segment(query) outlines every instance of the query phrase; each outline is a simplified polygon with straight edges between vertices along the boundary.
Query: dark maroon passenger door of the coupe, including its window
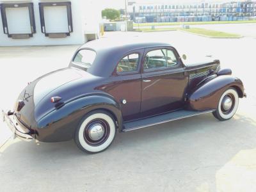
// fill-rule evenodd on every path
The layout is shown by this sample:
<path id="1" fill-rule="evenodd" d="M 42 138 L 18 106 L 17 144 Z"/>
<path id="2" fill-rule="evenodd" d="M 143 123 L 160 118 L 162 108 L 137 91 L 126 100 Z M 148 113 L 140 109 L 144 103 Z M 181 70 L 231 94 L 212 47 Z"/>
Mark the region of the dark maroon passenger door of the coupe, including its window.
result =
<path id="1" fill-rule="evenodd" d="M 188 74 L 172 47 L 145 49 L 141 65 L 141 117 L 184 106 Z"/>

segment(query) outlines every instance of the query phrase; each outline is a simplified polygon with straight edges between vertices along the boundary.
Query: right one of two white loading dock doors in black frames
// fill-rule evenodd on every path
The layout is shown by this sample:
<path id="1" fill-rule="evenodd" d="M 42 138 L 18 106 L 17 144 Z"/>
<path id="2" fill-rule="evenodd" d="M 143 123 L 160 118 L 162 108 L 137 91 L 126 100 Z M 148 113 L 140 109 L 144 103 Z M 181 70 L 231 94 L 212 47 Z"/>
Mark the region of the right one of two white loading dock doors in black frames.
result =
<path id="1" fill-rule="evenodd" d="M 67 6 L 44 6 L 45 33 L 68 33 Z"/>

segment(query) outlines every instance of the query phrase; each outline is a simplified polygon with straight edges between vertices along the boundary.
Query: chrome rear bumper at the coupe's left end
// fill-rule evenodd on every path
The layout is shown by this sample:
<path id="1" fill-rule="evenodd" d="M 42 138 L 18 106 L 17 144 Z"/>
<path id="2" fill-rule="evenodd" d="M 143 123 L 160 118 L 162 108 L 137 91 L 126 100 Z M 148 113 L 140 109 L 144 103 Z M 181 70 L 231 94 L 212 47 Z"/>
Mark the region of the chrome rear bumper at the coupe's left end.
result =
<path id="1" fill-rule="evenodd" d="M 26 129 L 26 127 L 20 125 L 12 113 L 10 114 L 5 113 L 3 110 L 1 111 L 1 117 L 3 119 L 3 122 L 6 122 L 8 127 L 13 132 L 13 138 L 17 137 L 25 141 L 33 140 L 34 138 L 31 136 L 31 132 L 28 129 Z"/>

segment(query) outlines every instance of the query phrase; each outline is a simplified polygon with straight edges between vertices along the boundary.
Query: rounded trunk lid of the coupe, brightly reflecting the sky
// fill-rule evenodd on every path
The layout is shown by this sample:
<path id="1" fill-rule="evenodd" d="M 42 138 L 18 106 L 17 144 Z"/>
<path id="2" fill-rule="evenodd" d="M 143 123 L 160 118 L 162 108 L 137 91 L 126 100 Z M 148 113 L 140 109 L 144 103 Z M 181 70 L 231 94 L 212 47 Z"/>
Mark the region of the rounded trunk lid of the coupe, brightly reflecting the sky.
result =
<path id="1" fill-rule="evenodd" d="M 42 99 L 63 84 L 75 81 L 83 75 L 74 68 L 63 68 L 39 77 L 22 90 L 15 102 L 17 120 L 26 127 L 36 127 L 35 107 Z"/>

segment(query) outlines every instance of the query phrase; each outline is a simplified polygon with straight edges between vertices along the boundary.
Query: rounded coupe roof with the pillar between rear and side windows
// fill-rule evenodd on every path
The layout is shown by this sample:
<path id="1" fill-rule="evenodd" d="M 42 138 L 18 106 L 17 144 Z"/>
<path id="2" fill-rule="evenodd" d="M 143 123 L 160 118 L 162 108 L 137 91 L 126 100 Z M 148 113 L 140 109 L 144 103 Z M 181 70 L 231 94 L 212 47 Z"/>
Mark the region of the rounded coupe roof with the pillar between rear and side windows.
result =
<path id="1" fill-rule="evenodd" d="M 125 54 L 149 47 L 172 47 L 172 45 L 164 42 L 143 42 L 139 38 L 129 40 L 113 40 L 111 38 L 90 41 L 77 50 L 92 49 L 95 51 L 97 56 L 92 67 L 87 71 L 95 76 L 109 77 Z"/>

